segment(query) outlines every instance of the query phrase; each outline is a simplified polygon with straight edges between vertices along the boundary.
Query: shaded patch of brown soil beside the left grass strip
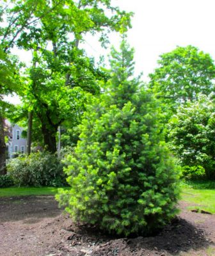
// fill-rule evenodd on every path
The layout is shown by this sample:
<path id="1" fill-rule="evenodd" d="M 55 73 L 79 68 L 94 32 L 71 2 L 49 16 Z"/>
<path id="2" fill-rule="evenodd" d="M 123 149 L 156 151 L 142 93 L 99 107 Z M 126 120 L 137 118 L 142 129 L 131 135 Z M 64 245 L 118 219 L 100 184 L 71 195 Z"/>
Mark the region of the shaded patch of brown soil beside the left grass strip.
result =
<path id="1" fill-rule="evenodd" d="M 54 196 L 13 196 L 0 198 L 0 223 L 23 220 L 25 223 L 36 223 L 42 218 L 60 215 L 62 209 Z"/>

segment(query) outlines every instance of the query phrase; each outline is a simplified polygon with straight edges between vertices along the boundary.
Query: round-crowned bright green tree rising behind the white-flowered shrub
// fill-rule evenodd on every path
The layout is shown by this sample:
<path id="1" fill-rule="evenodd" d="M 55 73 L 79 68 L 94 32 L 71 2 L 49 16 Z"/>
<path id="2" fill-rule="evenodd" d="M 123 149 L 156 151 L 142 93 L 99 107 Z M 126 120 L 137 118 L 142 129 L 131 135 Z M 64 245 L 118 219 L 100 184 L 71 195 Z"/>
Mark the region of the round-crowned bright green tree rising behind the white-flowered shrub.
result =
<path id="1" fill-rule="evenodd" d="M 195 100 L 198 93 L 214 92 L 215 65 L 209 54 L 196 47 L 177 47 L 162 54 L 159 67 L 150 74 L 150 88 L 164 102 L 170 115 L 180 104 Z"/>

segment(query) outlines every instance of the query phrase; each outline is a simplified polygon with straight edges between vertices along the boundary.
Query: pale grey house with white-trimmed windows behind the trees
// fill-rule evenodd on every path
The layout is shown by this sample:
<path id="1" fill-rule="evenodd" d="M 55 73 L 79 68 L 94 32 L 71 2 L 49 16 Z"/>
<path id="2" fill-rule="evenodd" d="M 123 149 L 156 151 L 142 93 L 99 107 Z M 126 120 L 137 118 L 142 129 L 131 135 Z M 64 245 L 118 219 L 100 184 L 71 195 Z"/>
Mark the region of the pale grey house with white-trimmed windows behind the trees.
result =
<path id="1" fill-rule="evenodd" d="M 27 152 L 27 140 L 26 138 L 22 138 L 22 127 L 19 125 L 10 125 L 9 124 L 9 132 L 8 132 L 8 157 L 13 158 L 16 154 L 24 154 Z"/>

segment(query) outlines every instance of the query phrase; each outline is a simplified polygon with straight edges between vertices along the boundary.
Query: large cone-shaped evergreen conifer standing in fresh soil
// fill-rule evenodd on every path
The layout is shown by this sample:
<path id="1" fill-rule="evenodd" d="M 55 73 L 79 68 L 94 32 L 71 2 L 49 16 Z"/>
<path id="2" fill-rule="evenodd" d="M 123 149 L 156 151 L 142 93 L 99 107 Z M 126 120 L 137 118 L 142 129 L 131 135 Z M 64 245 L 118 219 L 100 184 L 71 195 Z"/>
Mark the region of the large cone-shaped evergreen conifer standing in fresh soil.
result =
<path id="1" fill-rule="evenodd" d="M 76 221 L 111 234 L 148 234 L 175 216 L 178 168 L 160 132 L 151 93 L 131 78 L 132 51 L 113 52 L 107 92 L 93 99 L 56 198 Z"/>

